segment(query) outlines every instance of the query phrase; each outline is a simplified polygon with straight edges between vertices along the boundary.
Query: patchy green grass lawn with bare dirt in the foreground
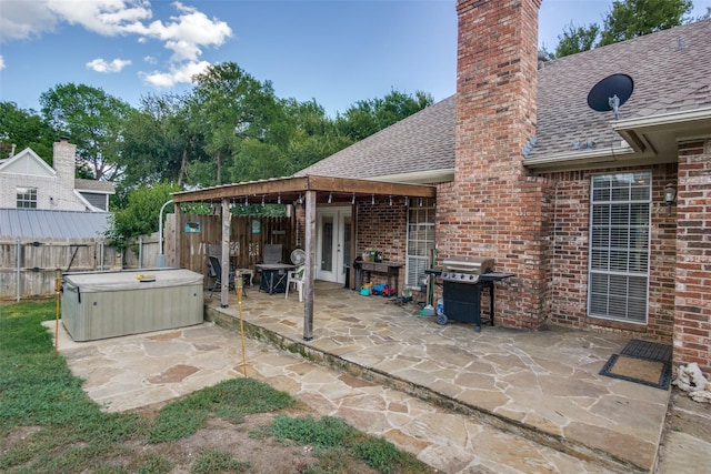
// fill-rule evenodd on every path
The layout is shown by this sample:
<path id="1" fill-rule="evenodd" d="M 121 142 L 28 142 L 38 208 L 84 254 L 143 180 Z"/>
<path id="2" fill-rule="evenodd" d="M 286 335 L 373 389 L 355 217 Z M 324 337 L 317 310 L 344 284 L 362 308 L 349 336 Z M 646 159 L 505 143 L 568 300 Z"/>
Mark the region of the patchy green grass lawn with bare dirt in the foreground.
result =
<path id="1" fill-rule="evenodd" d="M 54 302 L 0 306 L 0 472 L 433 472 L 252 379 L 156 411 L 101 412 L 54 355 L 40 324 L 53 319 Z"/>

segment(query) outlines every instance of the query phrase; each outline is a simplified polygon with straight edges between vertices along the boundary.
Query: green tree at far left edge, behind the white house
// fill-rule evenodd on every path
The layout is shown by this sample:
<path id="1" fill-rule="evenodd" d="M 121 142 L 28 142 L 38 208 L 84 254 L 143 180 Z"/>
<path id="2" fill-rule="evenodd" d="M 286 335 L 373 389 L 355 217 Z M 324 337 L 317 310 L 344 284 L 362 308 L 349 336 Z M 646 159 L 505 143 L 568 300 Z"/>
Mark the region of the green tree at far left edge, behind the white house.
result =
<path id="1" fill-rule="evenodd" d="M 56 133 L 33 110 L 18 108 L 14 102 L 0 102 L 0 159 L 31 148 L 48 164 L 52 164 Z"/>

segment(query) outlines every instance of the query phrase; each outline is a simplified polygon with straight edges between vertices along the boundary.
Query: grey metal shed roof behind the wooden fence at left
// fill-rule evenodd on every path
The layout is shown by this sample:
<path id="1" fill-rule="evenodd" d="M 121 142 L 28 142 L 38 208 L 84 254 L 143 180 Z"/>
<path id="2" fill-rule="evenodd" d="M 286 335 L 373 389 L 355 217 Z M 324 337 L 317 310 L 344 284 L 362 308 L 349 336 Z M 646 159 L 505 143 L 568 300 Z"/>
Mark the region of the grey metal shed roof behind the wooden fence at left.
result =
<path id="1" fill-rule="evenodd" d="M 0 209 L 0 238 L 88 239 L 103 235 L 110 213 Z"/>

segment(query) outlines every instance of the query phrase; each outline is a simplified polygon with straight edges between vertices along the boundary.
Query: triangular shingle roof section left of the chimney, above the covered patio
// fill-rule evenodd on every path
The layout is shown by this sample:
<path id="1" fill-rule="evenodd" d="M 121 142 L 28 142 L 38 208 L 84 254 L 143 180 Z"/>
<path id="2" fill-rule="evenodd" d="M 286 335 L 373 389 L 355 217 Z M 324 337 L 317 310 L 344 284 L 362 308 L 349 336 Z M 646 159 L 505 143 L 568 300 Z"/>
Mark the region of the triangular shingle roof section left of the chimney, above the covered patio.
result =
<path id="1" fill-rule="evenodd" d="M 451 169 L 455 102 L 444 99 L 296 174 L 358 179 Z"/>

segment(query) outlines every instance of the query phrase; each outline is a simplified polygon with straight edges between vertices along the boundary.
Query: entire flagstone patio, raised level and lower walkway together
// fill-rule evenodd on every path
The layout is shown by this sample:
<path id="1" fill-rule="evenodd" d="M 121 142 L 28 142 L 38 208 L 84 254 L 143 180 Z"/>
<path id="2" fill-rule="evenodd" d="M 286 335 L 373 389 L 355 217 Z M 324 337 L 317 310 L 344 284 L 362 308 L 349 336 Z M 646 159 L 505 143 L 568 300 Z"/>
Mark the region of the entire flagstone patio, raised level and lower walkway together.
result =
<path id="1" fill-rule="evenodd" d="M 150 405 L 243 376 L 239 305 L 219 325 L 73 343 L 60 352 L 110 411 Z M 670 392 L 598 375 L 628 342 L 419 316 L 419 306 L 318 288 L 314 340 L 294 294 L 243 301 L 247 372 L 321 414 L 388 437 L 447 473 L 650 472 Z M 53 324 L 50 325 L 53 330 Z M 228 327 L 230 330 L 226 330 Z M 336 369 L 336 370 L 334 370 Z"/>

